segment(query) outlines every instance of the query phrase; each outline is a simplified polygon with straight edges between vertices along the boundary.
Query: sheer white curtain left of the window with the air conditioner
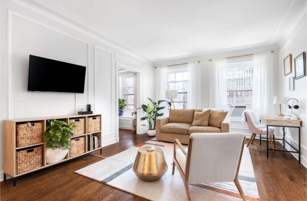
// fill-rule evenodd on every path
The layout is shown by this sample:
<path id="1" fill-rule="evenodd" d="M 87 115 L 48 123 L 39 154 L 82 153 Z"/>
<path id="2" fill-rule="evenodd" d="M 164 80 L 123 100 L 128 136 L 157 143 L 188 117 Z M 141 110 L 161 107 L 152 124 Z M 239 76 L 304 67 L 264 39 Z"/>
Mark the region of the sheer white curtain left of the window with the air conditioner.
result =
<path id="1" fill-rule="evenodd" d="M 212 59 L 209 90 L 210 108 L 220 108 L 227 111 L 226 58 Z"/>

